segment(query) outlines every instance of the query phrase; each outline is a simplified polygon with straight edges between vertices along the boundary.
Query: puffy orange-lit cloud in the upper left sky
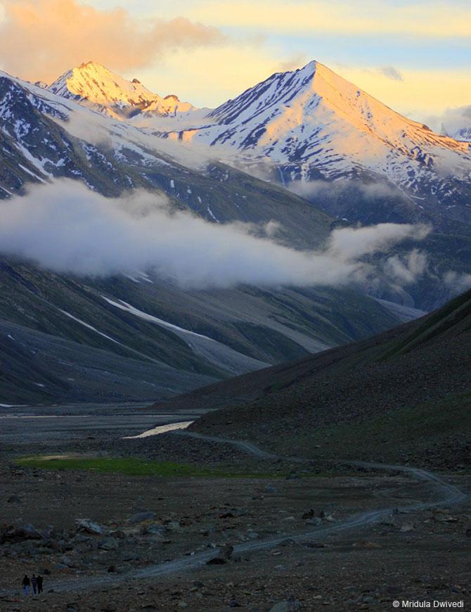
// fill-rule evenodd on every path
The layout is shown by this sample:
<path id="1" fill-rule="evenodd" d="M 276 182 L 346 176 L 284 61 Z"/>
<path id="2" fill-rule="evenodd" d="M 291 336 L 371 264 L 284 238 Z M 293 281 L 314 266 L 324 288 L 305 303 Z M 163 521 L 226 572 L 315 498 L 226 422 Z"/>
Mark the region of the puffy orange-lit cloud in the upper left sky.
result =
<path id="1" fill-rule="evenodd" d="M 85 60 L 127 72 L 176 49 L 224 41 L 216 27 L 183 17 L 143 21 L 76 0 L 0 0 L 0 20 L 1 68 L 46 82 Z"/>

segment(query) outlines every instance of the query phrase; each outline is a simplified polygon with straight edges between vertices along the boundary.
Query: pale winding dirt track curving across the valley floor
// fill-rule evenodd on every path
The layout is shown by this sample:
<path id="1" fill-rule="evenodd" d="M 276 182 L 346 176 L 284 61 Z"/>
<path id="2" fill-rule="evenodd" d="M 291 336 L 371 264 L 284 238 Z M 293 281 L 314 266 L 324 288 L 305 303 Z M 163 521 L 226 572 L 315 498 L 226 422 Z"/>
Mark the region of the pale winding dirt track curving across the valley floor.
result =
<path id="1" fill-rule="evenodd" d="M 199 433 L 193 433 L 188 431 L 177 431 L 173 435 L 185 435 L 191 438 L 198 438 L 199 440 L 207 440 L 208 442 L 231 444 L 233 446 L 238 447 L 240 450 L 243 450 L 244 452 L 254 454 L 262 459 L 287 459 L 286 457 L 278 457 L 278 455 L 271 454 L 262 449 L 259 449 L 257 446 L 253 445 L 250 442 L 243 442 L 241 440 L 216 438 L 213 436 L 202 435 Z M 302 459 L 300 457 L 289 458 L 290 461 L 292 461 L 293 459 L 299 462 L 311 461 L 311 459 Z M 358 528 L 363 528 L 366 525 L 378 523 L 378 521 L 381 521 L 382 519 L 390 516 L 396 508 L 402 512 L 412 512 L 427 508 L 433 508 L 444 504 L 446 504 L 447 506 L 459 504 L 467 498 L 467 495 L 460 491 L 458 487 L 446 483 L 444 480 L 439 478 L 439 476 L 432 472 L 408 466 L 368 463 L 366 461 L 348 461 L 346 463 L 365 468 L 374 468 L 385 471 L 400 471 L 407 474 L 408 476 L 412 476 L 416 480 L 421 480 L 425 483 L 429 483 L 432 489 L 432 495 L 430 496 L 430 500 L 427 502 L 418 502 L 415 504 L 410 504 L 408 506 L 392 506 L 378 510 L 361 512 L 359 514 L 354 514 L 350 516 L 346 520 L 342 521 L 342 523 L 328 526 L 320 526 L 314 529 L 311 528 L 308 531 L 304 531 L 303 533 L 299 533 L 297 535 L 285 535 L 282 537 L 269 538 L 267 540 L 258 540 L 256 542 L 243 542 L 243 544 L 237 544 L 234 547 L 234 554 L 247 554 L 251 552 L 269 549 L 278 546 L 286 540 L 302 542 L 304 540 L 312 540 L 313 538 L 315 538 L 316 541 L 318 541 L 322 540 L 328 535 L 351 531 Z M 93 587 L 104 587 L 105 585 L 115 584 L 117 582 L 122 582 L 123 580 L 138 580 L 158 577 L 162 575 L 169 575 L 172 573 L 183 573 L 186 571 L 191 571 L 204 567 L 207 561 L 209 561 L 209 559 L 212 559 L 214 556 L 216 556 L 216 551 L 212 549 L 208 552 L 194 554 L 193 556 L 185 556 L 182 559 L 175 559 L 174 561 L 167 561 L 166 563 L 157 563 L 153 566 L 130 570 L 129 572 L 122 574 L 103 575 L 97 578 L 79 578 L 78 580 L 67 582 L 56 582 L 55 584 L 51 584 L 51 588 L 53 588 L 56 592 L 73 591 L 79 589 L 89 589 Z"/>

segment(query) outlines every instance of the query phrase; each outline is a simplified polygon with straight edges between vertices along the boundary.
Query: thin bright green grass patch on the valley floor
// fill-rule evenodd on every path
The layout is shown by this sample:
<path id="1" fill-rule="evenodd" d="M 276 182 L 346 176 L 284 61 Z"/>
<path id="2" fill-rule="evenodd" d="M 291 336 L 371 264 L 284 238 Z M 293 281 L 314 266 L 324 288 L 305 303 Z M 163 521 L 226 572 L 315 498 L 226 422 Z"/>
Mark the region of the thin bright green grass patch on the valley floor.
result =
<path id="1" fill-rule="evenodd" d="M 281 473 L 246 473 L 207 469 L 173 461 L 146 461 L 136 457 L 22 457 L 16 463 L 25 468 L 118 473 L 125 476 L 281 478 Z"/>

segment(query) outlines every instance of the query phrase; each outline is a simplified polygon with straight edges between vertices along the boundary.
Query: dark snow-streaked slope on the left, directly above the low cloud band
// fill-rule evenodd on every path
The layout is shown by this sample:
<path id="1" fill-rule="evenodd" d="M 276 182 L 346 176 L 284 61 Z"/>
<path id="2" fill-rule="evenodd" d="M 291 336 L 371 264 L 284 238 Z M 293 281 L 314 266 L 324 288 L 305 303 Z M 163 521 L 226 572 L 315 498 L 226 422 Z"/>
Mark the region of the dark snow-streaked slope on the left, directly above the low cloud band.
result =
<path id="1" fill-rule="evenodd" d="M 286 240 L 312 248 L 329 215 L 285 190 L 102 117 L 51 92 L 0 74 L 0 198 L 67 177 L 105 196 L 143 188 L 211 222 L 279 222 Z"/>

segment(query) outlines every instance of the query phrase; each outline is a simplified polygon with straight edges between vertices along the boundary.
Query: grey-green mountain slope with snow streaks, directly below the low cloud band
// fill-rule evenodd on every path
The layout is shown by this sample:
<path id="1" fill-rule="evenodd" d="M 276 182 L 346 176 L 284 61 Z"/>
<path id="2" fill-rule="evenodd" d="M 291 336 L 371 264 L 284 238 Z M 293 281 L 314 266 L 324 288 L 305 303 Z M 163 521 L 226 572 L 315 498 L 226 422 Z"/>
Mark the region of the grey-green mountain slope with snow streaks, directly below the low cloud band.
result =
<path id="1" fill-rule="evenodd" d="M 5 404 L 164 399 L 398 321 L 354 291 L 185 291 L 148 274 L 79 279 L 4 258 L 0 283 Z"/>

